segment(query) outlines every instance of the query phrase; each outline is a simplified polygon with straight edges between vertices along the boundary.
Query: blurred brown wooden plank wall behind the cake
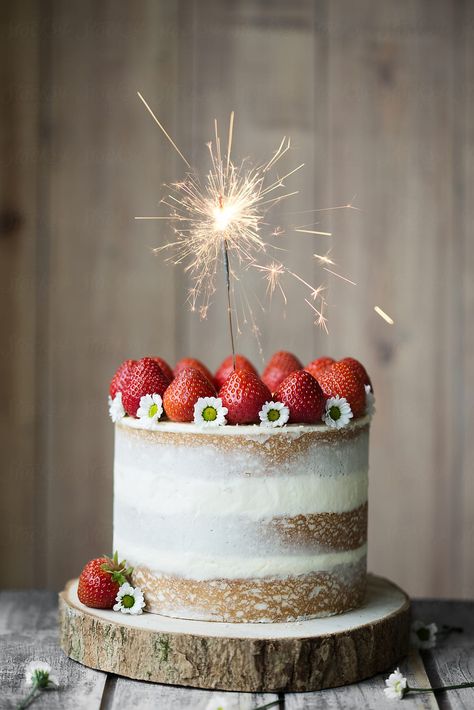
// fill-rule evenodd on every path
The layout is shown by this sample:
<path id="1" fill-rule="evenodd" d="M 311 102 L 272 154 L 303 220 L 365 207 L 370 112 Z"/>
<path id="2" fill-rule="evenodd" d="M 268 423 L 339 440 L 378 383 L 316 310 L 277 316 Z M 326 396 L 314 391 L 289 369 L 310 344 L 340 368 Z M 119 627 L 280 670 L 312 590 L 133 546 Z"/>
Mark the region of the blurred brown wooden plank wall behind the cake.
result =
<path id="1" fill-rule="evenodd" d="M 212 119 L 235 109 L 237 155 L 263 160 L 290 135 L 290 163 L 306 163 L 288 211 L 360 208 L 316 213 L 358 284 L 329 279 L 329 336 L 290 284 L 286 318 L 275 305 L 260 319 L 264 354 L 367 364 L 370 567 L 414 595 L 472 596 L 472 3 L 21 0 L 0 12 L 2 583 L 60 588 L 110 548 L 116 365 L 155 353 L 215 367 L 229 350 L 222 299 L 207 321 L 190 313 L 181 271 L 150 257 L 165 227 L 133 220 L 183 167 L 140 90 L 194 164 Z M 316 279 L 328 240 L 285 239 Z M 239 350 L 261 364 L 246 327 Z"/>

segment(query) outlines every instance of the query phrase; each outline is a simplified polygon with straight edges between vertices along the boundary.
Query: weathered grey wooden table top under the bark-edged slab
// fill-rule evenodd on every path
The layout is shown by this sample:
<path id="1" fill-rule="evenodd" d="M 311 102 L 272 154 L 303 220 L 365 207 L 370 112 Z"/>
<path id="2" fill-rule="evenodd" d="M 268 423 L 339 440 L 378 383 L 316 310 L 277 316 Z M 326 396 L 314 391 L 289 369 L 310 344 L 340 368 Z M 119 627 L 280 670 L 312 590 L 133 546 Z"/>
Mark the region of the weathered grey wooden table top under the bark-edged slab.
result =
<path id="1" fill-rule="evenodd" d="M 436 648 L 413 651 L 400 669 L 413 686 L 437 686 L 474 680 L 474 601 L 421 600 L 413 602 L 413 618 L 463 627 L 440 639 Z M 24 668 L 31 660 L 45 660 L 54 669 L 61 688 L 43 692 L 34 708 L 58 710 L 254 710 L 279 701 L 280 710 L 339 710 L 393 708 L 383 693 L 388 674 L 356 685 L 315 693 L 251 694 L 194 690 L 128 680 L 94 671 L 71 661 L 58 645 L 57 595 L 45 591 L 0 592 L 0 708 L 14 708 L 26 695 Z M 406 708 L 474 708 L 474 689 L 410 695 Z"/>

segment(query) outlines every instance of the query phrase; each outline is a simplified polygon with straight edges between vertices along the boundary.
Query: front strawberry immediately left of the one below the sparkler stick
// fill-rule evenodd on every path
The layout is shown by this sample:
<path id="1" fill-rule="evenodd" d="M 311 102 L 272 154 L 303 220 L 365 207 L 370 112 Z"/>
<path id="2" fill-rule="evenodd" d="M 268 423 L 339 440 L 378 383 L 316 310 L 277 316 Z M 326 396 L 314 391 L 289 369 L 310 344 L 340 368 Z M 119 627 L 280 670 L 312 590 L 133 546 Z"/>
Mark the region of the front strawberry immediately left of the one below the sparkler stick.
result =
<path id="1" fill-rule="evenodd" d="M 174 422 L 192 422 L 194 405 L 200 397 L 215 397 L 214 385 L 204 377 L 202 372 L 192 367 L 186 367 L 166 389 L 163 397 L 163 407 L 169 419 Z"/>

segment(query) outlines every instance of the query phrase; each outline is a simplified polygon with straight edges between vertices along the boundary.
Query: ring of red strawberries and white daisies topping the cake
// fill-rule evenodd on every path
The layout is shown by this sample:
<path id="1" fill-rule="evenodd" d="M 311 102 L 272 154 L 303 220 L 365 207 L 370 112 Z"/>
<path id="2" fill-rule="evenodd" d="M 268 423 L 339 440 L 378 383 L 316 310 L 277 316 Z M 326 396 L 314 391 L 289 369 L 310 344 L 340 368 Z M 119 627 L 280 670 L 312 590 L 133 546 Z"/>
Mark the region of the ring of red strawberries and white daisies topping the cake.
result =
<path id="1" fill-rule="evenodd" d="M 325 421 L 340 428 L 369 408 L 372 385 L 354 358 L 336 362 L 320 357 L 306 367 L 292 353 L 280 351 L 260 378 L 243 355 L 227 357 L 215 375 L 194 358 L 171 370 L 160 357 L 126 360 L 110 383 L 111 416 L 128 414 L 157 421 L 164 412 L 176 422 L 206 425 L 270 426 Z"/>

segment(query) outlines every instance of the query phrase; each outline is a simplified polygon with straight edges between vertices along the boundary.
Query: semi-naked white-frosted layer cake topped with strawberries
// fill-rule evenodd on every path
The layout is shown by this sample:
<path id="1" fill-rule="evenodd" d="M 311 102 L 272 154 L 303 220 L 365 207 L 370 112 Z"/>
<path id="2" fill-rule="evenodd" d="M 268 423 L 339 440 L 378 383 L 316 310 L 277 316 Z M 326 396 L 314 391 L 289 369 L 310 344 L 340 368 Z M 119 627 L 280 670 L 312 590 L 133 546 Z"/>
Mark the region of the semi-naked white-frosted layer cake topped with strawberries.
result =
<path id="1" fill-rule="evenodd" d="M 127 362 L 133 368 L 133 361 Z M 349 366 L 337 370 L 332 363 L 324 367 L 330 376 L 319 377 L 309 366 L 311 375 L 306 370 L 289 375 L 284 382 L 293 378 L 291 386 L 281 385 L 273 398 L 258 376 L 248 373 L 257 390 L 263 388 L 260 425 L 258 409 L 250 424 L 229 423 L 221 415 L 225 426 L 202 426 L 196 415 L 191 421 L 189 402 L 197 407 L 197 394 L 199 402 L 222 403 L 206 399 L 209 377 L 193 368 L 185 370 L 192 385 L 177 390 L 189 399 L 187 410 L 167 407 L 165 391 L 163 413 L 160 395 L 140 396 L 140 387 L 137 394 L 125 380 L 124 392 L 128 387 L 131 394 L 125 409 L 119 407 L 120 416 L 113 416 L 113 538 L 114 549 L 133 567 L 130 581 L 142 590 L 146 611 L 275 623 L 340 614 L 363 603 L 371 387 L 363 382 L 370 382 L 363 368 L 365 375 L 357 367 L 348 374 Z M 300 380 L 321 393 L 322 405 L 313 403 L 322 407 L 317 421 L 314 413 L 307 417 L 298 408 L 294 382 Z M 162 386 L 156 382 L 143 382 L 142 390 Z M 232 421 L 238 416 L 231 398 L 225 400 L 225 387 L 219 396 Z M 122 406 L 115 390 L 120 401 L 114 397 L 112 407 Z M 256 396 L 251 392 L 249 399 Z M 289 404 L 278 405 L 289 417 L 283 426 L 264 421 L 262 412 L 270 405 L 262 403 L 268 399 Z M 303 400 L 307 408 L 309 399 Z M 135 416 L 124 416 L 127 407 Z M 339 417 L 338 407 L 347 416 L 336 421 L 330 412 Z M 292 423 L 292 411 L 302 421 Z M 162 414 L 168 419 L 160 420 Z M 172 421 L 170 415 L 186 420 Z"/>

